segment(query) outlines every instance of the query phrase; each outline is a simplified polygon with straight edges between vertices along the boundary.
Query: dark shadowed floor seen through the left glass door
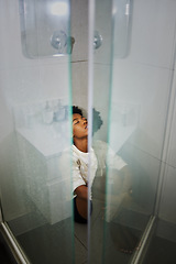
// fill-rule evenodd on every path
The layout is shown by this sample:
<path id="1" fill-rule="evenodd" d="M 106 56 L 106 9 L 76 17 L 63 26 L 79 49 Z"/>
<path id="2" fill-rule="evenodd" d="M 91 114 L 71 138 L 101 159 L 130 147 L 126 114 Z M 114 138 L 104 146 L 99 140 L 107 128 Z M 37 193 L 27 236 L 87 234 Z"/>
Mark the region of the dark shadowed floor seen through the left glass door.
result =
<path id="1" fill-rule="evenodd" d="M 73 262 L 70 219 L 53 226 L 44 224 L 19 235 L 16 239 L 33 264 Z"/>

